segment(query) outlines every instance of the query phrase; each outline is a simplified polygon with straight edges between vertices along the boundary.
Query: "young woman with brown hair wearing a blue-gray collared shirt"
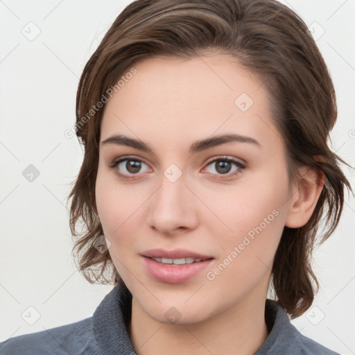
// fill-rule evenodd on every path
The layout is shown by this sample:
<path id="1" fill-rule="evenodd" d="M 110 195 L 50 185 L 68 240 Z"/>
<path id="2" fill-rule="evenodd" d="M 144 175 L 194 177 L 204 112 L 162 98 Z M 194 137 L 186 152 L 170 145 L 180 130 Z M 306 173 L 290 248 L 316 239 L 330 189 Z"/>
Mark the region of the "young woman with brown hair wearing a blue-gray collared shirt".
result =
<path id="1" fill-rule="evenodd" d="M 318 287 L 322 214 L 324 241 L 351 189 L 302 19 L 272 0 L 135 1 L 87 62 L 76 118 L 74 251 L 115 287 L 1 354 L 336 354 L 289 319 Z"/>

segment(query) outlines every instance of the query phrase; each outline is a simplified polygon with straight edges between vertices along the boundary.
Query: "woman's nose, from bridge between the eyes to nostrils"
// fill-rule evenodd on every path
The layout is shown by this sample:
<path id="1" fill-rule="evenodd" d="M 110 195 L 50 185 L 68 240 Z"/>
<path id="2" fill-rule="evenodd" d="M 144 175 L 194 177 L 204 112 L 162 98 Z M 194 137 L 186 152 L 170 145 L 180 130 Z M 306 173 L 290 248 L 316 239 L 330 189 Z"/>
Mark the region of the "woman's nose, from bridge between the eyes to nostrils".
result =
<path id="1" fill-rule="evenodd" d="M 187 232 L 198 224 L 198 198 L 187 186 L 184 173 L 176 174 L 181 174 L 176 168 L 162 173 L 148 204 L 148 225 L 164 235 Z"/>

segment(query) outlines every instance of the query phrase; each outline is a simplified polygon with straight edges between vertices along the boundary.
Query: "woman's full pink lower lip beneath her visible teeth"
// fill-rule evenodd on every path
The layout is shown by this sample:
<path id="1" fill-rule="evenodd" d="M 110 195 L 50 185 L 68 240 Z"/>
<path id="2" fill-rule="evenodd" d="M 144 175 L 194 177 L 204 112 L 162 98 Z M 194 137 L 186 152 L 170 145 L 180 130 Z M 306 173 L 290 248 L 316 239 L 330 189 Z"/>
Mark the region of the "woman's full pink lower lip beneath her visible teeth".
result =
<path id="1" fill-rule="evenodd" d="M 213 259 L 207 259 L 198 263 L 187 263 L 184 265 L 169 265 L 144 257 L 144 263 L 148 274 L 159 282 L 166 284 L 180 284 L 205 269 Z"/>

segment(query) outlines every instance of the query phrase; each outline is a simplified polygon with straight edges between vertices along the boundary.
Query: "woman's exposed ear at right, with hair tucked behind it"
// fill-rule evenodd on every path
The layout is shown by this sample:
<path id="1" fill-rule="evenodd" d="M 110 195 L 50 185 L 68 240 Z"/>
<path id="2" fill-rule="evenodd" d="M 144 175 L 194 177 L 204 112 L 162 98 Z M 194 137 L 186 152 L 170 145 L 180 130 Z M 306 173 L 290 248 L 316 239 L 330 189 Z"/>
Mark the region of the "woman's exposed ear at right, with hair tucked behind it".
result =
<path id="1" fill-rule="evenodd" d="M 293 186 L 285 220 L 290 228 L 302 227 L 309 221 L 324 186 L 322 171 L 310 166 L 302 166 L 299 171 L 301 178 Z"/>

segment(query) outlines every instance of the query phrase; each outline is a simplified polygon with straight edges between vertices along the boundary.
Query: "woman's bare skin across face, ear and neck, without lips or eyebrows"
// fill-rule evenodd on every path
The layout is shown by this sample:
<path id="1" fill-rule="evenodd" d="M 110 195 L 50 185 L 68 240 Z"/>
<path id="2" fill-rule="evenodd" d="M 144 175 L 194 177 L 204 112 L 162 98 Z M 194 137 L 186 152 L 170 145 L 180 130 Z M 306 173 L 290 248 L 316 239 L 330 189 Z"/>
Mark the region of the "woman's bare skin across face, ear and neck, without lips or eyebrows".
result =
<path id="1" fill-rule="evenodd" d="M 133 296 L 132 344 L 139 355 L 254 354 L 268 337 L 265 301 L 282 230 L 309 220 L 321 177 L 300 168 L 302 179 L 288 185 L 284 141 L 272 123 L 268 93 L 236 60 L 217 53 L 150 58 L 135 69 L 105 106 L 101 143 L 125 135 L 144 141 L 153 153 L 103 144 L 96 178 L 110 256 Z M 242 93 L 254 101 L 245 112 L 235 103 Z M 234 141 L 189 153 L 195 141 L 231 133 L 259 144 Z M 128 160 L 143 161 L 140 170 L 127 168 L 130 160 L 110 168 L 132 155 Z M 227 164 L 225 157 L 245 168 Z M 223 173 L 217 158 L 229 172 Z M 164 175 L 171 164 L 182 173 L 175 182 Z M 269 223 L 262 232 L 208 279 L 207 272 L 264 218 Z M 166 284 L 144 267 L 140 254 L 152 248 L 193 250 L 214 260 L 187 282 Z M 166 318 L 171 307 L 180 315 L 174 324 Z"/>

